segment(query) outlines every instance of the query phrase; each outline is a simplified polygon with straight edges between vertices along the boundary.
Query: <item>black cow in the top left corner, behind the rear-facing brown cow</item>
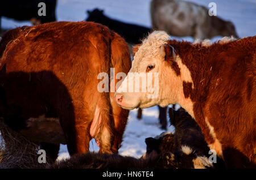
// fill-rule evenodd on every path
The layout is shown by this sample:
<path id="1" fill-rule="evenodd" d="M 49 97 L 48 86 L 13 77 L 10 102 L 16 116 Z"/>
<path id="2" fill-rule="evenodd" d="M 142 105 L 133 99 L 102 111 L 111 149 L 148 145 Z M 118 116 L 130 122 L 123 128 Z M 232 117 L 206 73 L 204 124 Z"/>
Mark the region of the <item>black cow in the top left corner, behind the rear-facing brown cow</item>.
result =
<path id="1" fill-rule="evenodd" d="M 43 2 L 46 4 L 46 16 L 39 16 L 38 4 Z M 55 22 L 57 0 L 8 0 L 0 3 L 0 28 L 1 17 L 12 18 L 18 21 L 30 20 L 32 24 L 42 24 L 47 22 Z"/>

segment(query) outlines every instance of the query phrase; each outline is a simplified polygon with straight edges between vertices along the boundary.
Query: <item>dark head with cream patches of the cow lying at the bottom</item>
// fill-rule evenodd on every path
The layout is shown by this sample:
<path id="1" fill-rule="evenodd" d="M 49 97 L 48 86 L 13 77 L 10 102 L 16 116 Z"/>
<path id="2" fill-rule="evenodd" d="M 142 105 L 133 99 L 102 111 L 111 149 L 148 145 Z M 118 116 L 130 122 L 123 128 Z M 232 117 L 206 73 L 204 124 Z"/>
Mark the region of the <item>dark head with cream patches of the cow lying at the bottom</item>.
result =
<path id="1" fill-rule="evenodd" d="M 163 132 L 155 138 L 146 138 L 147 151 L 141 158 L 143 160 L 157 160 L 164 168 L 213 168 L 208 157 L 197 155 L 191 147 L 181 145 L 180 149 L 177 149 L 175 136 L 171 132 Z"/>

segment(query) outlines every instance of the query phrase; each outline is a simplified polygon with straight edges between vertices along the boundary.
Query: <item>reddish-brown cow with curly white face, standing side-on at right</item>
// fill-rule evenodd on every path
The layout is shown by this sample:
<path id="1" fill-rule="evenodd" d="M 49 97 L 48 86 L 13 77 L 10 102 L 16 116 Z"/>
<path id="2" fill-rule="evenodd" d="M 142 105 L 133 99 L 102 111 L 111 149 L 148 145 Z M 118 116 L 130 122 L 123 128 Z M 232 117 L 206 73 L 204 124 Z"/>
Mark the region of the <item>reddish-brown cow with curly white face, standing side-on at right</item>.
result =
<path id="1" fill-rule="evenodd" d="M 226 166 L 255 167 L 256 36 L 212 45 L 169 38 L 155 31 L 134 48 L 130 72 L 152 72 L 147 88 L 153 91 L 127 92 L 134 79 L 127 76 L 115 101 L 125 109 L 180 104 Z"/>

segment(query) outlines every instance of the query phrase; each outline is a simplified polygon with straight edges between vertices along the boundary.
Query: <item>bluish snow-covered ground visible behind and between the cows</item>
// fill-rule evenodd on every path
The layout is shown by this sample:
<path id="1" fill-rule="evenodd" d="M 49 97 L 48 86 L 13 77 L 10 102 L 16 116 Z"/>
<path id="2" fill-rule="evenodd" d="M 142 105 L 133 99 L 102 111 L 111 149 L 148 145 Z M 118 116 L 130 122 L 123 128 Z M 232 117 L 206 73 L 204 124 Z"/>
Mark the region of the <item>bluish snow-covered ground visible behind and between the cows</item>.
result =
<path id="1" fill-rule="evenodd" d="M 110 18 L 122 20 L 123 22 L 135 23 L 151 27 L 150 20 L 151 0 L 58 0 L 56 15 L 58 21 L 81 21 L 87 18 L 86 10 L 102 8 Z M 238 36 L 256 35 L 256 0 L 191 0 L 208 7 L 210 2 L 217 4 L 217 15 L 225 20 L 230 20 L 236 26 Z M 15 22 L 14 20 L 2 18 L 3 28 L 15 28 L 22 25 L 31 25 L 30 22 Z M 176 38 L 176 37 L 174 37 Z M 221 37 L 214 37 L 216 41 Z M 191 37 L 177 38 L 192 41 Z M 125 134 L 123 135 L 122 147 L 119 149 L 121 155 L 140 157 L 146 152 L 144 139 L 159 135 L 158 107 L 143 109 L 141 121 L 138 121 L 137 110 L 132 110 L 129 115 Z M 168 122 L 169 123 L 169 122 Z M 168 126 L 167 131 L 174 131 L 174 127 Z M 98 151 L 96 142 L 90 142 L 90 151 Z M 61 145 L 59 159 L 69 157 L 67 146 Z"/>

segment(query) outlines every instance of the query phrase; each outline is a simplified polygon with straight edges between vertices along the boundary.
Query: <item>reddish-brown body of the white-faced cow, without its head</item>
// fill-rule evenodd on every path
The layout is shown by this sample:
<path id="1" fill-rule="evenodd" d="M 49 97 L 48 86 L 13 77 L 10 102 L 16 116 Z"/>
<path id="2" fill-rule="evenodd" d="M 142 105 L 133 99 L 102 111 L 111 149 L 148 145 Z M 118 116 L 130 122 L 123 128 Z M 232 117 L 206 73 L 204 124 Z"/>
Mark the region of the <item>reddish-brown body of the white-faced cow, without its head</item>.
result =
<path id="1" fill-rule="evenodd" d="M 175 40 L 168 45 L 191 72 L 195 87 L 183 82 L 183 92 L 193 102 L 207 143 L 214 143 L 214 137 L 205 118 L 221 143 L 226 165 L 255 168 L 256 36 L 207 47 Z"/>

